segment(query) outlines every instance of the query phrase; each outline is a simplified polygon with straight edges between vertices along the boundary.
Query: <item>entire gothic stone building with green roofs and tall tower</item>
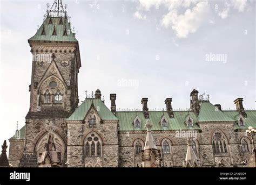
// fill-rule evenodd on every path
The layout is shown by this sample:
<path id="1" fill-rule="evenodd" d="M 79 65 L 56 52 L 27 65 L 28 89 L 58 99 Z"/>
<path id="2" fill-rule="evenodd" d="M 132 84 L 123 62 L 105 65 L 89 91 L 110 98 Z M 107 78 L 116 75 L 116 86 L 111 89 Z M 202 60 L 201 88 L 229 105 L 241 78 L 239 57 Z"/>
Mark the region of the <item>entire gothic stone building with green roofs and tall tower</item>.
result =
<path id="1" fill-rule="evenodd" d="M 235 99 L 236 110 L 221 110 L 192 90 L 187 110 L 174 111 L 166 98 L 166 110 L 151 111 L 142 98 L 141 111 L 117 111 L 117 95 L 110 95 L 109 109 L 96 90 L 78 106 L 79 44 L 62 2 L 53 5 L 59 11 L 48 10 L 28 40 L 30 109 L 25 126 L 9 139 L 12 166 L 142 167 L 148 120 L 161 167 L 182 167 L 192 160 L 186 158 L 191 148 L 203 167 L 241 167 L 250 159 L 252 140 L 245 130 L 256 127 L 256 111 L 245 110 L 242 98 Z"/>

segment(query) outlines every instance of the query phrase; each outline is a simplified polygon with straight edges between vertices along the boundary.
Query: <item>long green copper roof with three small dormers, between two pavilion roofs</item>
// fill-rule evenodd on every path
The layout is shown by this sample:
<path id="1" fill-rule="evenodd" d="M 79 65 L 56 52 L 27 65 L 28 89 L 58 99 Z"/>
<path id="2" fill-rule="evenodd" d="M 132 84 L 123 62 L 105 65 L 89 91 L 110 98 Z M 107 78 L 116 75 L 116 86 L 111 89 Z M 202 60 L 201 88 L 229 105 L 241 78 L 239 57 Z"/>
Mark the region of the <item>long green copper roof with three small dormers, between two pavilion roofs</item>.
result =
<path id="1" fill-rule="evenodd" d="M 199 126 L 194 122 L 193 126 L 187 126 L 185 124 L 186 116 L 188 111 L 173 111 L 174 118 L 170 118 L 166 111 L 149 111 L 150 123 L 153 125 L 152 130 L 200 130 Z M 194 112 L 189 112 L 193 120 L 197 120 L 196 114 Z M 161 118 L 164 117 L 168 120 L 167 127 L 162 127 L 160 124 Z M 133 120 L 139 117 L 142 121 L 140 128 L 135 128 L 133 125 Z M 119 130 L 120 131 L 134 131 L 141 130 L 145 131 L 144 125 L 146 124 L 146 119 L 143 112 L 117 112 L 117 117 L 119 119 Z"/>

